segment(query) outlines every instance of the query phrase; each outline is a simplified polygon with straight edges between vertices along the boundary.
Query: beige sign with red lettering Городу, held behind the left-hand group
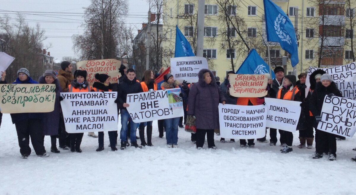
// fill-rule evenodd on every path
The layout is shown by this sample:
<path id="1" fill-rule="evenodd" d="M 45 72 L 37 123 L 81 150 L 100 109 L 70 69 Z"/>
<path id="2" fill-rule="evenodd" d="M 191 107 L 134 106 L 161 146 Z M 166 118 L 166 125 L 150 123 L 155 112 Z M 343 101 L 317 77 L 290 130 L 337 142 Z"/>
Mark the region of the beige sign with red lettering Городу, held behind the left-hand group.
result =
<path id="1" fill-rule="evenodd" d="M 110 83 L 117 83 L 117 80 L 121 76 L 119 73 L 120 65 L 121 61 L 115 59 L 77 62 L 78 70 L 86 70 L 88 72 L 87 81 L 89 82 L 89 85 L 93 85 L 94 82 L 98 81 L 94 77 L 96 73 L 109 75 L 111 77 Z"/>

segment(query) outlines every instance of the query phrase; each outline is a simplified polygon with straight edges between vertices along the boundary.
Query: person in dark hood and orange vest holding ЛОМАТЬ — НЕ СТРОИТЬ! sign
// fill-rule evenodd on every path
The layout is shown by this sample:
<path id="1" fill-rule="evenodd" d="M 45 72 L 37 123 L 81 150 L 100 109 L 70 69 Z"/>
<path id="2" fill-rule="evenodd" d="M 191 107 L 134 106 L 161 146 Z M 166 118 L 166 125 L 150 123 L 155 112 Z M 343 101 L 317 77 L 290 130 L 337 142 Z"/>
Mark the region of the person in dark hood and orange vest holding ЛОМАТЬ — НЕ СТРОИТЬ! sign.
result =
<path id="1" fill-rule="evenodd" d="M 283 87 L 279 89 L 277 93 L 277 99 L 285 99 L 290 101 L 299 101 L 300 102 L 300 92 L 296 86 L 297 78 L 294 75 L 286 75 L 283 78 L 282 85 Z M 283 144 L 284 148 L 281 150 L 282 153 L 292 152 L 293 144 L 293 133 L 289 131 L 280 131 L 281 138 L 280 141 Z"/>

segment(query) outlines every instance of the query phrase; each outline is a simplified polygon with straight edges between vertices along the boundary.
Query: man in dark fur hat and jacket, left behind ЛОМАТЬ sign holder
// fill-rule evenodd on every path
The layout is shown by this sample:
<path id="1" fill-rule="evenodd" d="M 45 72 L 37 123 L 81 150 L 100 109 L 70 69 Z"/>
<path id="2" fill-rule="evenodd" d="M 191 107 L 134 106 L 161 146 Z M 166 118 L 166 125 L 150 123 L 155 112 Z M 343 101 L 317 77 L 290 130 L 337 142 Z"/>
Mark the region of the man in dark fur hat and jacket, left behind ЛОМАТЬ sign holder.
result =
<path id="1" fill-rule="evenodd" d="M 282 66 L 277 66 L 274 69 L 274 75 L 276 75 L 276 78 L 273 79 L 273 83 L 272 83 L 272 89 L 269 90 L 269 96 L 271 98 L 276 98 L 277 93 L 279 91 L 279 87 L 282 86 L 282 80 L 284 77 L 284 68 Z M 279 134 L 281 134 L 281 130 L 279 130 Z M 274 128 L 269 128 L 269 145 L 270 146 L 275 146 L 277 143 L 277 129 Z M 279 140 L 281 141 L 281 140 Z M 283 143 L 281 142 L 281 145 Z"/>

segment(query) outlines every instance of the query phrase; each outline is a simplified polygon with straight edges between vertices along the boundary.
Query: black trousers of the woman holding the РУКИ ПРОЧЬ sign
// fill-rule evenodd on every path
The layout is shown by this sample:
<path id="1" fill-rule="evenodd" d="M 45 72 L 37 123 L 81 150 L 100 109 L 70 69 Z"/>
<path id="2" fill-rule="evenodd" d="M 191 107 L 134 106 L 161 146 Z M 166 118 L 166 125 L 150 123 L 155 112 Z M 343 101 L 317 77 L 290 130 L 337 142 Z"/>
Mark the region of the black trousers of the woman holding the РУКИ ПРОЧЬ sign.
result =
<path id="1" fill-rule="evenodd" d="M 319 129 L 316 129 L 315 134 L 317 135 L 315 136 L 315 142 L 318 142 L 318 144 L 315 145 L 316 153 L 332 153 L 336 156 L 336 136 Z"/>

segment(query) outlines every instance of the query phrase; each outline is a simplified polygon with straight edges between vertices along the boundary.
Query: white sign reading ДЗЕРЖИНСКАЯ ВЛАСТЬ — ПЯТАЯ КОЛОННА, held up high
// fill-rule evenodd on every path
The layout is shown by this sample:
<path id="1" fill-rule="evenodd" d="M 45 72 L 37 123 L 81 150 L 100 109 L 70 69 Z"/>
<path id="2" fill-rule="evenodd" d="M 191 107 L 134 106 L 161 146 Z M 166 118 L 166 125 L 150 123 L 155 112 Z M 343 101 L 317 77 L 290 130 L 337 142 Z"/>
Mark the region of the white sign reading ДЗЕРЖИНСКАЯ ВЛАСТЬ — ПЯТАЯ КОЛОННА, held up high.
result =
<path id="1" fill-rule="evenodd" d="M 198 82 L 198 73 L 201 69 L 208 69 L 208 61 L 204 57 L 190 56 L 171 58 L 171 72 L 179 82 Z"/>

